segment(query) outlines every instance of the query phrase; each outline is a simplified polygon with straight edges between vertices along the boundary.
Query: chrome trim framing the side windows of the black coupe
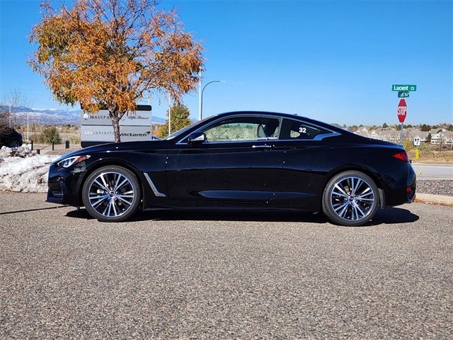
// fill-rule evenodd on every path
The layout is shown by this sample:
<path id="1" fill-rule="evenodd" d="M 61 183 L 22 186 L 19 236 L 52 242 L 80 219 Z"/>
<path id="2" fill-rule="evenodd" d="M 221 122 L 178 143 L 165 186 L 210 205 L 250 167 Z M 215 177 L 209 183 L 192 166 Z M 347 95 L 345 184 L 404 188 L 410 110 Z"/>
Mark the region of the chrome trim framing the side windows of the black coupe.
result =
<path id="1" fill-rule="evenodd" d="M 263 117 L 263 118 L 274 118 L 274 119 L 278 119 L 280 120 L 280 124 L 278 125 L 278 137 L 277 139 L 269 139 L 269 140 L 238 140 L 238 141 L 225 141 L 225 142 L 203 142 L 203 144 L 225 144 L 225 143 L 246 143 L 246 142 L 311 142 L 311 141 L 319 141 L 319 140 L 323 140 L 325 138 L 328 138 L 328 137 L 336 137 L 336 136 L 340 136 L 341 133 L 340 132 L 334 132 L 328 128 L 324 128 L 322 126 L 319 126 L 319 125 L 316 125 L 316 124 L 312 124 L 312 123 L 307 123 L 305 120 L 302 120 L 302 119 L 298 119 L 298 118 L 289 118 L 289 117 L 276 117 L 275 115 L 247 115 L 247 114 L 238 114 L 238 115 L 231 115 L 229 116 L 228 118 L 237 118 L 237 117 Z M 219 120 L 222 120 L 222 119 L 227 119 L 225 117 L 221 117 L 217 120 L 214 120 L 213 122 L 211 122 L 209 125 L 207 125 L 207 128 L 209 128 L 211 125 L 214 125 L 215 123 L 219 122 Z M 283 124 L 283 120 L 284 119 L 287 119 L 287 120 L 294 120 L 298 123 L 304 123 L 306 125 L 309 125 L 309 126 L 313 126 L 313 127 L 316 127 L 316 128 L 320 128 L 322 130 L 327 130 L 327 131 L 330 131 L 330 133 L 321 133 L 319 135 L 316 135 L 314 138 L 311 138 L 311 139 L 308 139 L 308 140 L 304 140 L 304 139 L 291 139 L 291 140 L 280 140 L 280 133 L 282 132 L 282 124 Z M 202 130 L 202 128 L 199 128 L 191 133 L 194 133 L 194 132 L 199 132 L 200 130 Z M 187 145 L 187 143 L 184 143 L 182 142 L 183 140 L 185 140 L 188 136 L 185 136 L 184 138 L 182 138 L 181 140 L 179 140 L 176 145 Z"/>

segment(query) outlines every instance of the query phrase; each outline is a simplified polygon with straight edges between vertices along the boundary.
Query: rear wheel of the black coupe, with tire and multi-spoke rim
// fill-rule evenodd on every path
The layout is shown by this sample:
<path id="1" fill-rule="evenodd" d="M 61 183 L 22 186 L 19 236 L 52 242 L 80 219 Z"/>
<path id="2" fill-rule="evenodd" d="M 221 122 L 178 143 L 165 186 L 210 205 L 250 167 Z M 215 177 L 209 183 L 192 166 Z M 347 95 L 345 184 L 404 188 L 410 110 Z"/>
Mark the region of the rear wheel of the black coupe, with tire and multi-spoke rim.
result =
<path id="1" fill-rule="evenodd" d="M 376 183 L 360 171 L 344 171 L 333 176 L 324 188 L 322 200 L 328 219 L 347 227 L 364 225 L 379 208 Z"/>

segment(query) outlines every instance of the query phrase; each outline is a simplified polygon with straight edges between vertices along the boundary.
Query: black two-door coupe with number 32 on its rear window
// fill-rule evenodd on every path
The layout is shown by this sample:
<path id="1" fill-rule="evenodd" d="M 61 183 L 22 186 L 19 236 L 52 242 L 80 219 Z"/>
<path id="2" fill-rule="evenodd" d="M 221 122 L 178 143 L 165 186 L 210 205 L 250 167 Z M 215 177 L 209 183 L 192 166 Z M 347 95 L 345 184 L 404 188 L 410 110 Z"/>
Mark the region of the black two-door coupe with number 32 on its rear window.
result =
<path id="1" fill-rule="evenodd" d="M 378 208 L 412 202 L 403 147 L 298 115 L 215 115 L 165 140 L 80 149 L 52 163 L 47 201 L 98 220 L 137 209 L 294 208 L 358 226 Z"/>

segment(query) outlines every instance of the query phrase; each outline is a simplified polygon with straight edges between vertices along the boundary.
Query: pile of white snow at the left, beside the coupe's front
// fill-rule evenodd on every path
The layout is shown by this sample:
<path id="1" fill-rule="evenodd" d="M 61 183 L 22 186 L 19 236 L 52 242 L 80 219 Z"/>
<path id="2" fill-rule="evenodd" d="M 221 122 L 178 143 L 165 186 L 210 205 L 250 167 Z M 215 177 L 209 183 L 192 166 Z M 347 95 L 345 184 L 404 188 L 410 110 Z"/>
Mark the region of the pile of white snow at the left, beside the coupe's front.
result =
<path id="1" fill-rule="evenodd" d="M 59 156 L 31 154 L 28 147 L 0 149 L 0 190 L 47 192 L 49 164 Z"/>

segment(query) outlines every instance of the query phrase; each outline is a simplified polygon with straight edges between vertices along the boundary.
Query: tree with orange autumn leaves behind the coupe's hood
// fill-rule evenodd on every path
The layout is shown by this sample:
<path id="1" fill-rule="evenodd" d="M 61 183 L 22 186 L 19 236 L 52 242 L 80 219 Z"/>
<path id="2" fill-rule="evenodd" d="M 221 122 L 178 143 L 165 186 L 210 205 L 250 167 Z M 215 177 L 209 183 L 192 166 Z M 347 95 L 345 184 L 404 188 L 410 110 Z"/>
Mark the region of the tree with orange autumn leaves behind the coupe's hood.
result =
<path id="1" fill-rule="evenodd" d="M 154 0 L 76 0 L 58 11 L 46 1 L 30 34 L 38 50 L 28 60 L 57 101 L 96 113 L 107 108 L 115 142 L 120 119 L 152 92 L 176 101 L 194 91 L 202 46 L 183 31 L 175 11 Z"/>

